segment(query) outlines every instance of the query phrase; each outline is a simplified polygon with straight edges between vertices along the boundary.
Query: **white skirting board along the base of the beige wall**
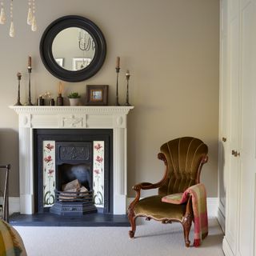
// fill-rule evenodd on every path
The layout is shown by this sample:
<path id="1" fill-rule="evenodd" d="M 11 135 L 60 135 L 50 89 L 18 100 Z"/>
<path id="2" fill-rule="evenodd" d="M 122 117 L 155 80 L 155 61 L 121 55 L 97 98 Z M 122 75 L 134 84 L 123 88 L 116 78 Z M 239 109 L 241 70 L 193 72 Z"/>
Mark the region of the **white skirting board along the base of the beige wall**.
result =
<path id="1" fill-rule="evenodd" d="M 132 202 L 134 198 L 127 198 L 127 206 Z M 0 198 L 0 202 L 2 203 L 2 198 Z M 19 207 L 19 198 L 18 197 L 10 197 L 9 198 L 9 213 L 17 213 L 20 210 Z M 218 216 L 218 198 L 207 198 L 207 211 L 208 217 L 217 217 Z"/>

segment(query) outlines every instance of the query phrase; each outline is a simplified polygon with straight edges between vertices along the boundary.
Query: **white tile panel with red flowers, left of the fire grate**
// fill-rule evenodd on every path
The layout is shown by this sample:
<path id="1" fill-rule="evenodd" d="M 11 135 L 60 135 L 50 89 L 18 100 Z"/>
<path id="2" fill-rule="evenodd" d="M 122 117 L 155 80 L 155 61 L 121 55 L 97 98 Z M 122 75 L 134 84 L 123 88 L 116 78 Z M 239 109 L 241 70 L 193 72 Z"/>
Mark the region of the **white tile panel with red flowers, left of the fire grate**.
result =
<path id="1" fill-rule="evenodd" d="M 50 207 L 55 202 L 55 142 L 43 141 L 43 206 Z"/>

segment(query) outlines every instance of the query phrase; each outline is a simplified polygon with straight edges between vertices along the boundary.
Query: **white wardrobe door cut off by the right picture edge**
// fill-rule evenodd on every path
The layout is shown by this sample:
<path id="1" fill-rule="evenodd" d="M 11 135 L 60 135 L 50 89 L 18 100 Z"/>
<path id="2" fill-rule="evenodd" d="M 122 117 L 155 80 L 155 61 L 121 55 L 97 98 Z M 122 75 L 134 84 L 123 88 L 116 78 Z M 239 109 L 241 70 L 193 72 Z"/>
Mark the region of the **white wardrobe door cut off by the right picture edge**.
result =
<path id="1" fill-rule="evenodd" d="M 256 5 L 243 0 L 241 10 L 241 170 L 238 255 L 254 255 L 255 116 L 256 116 Z"/>

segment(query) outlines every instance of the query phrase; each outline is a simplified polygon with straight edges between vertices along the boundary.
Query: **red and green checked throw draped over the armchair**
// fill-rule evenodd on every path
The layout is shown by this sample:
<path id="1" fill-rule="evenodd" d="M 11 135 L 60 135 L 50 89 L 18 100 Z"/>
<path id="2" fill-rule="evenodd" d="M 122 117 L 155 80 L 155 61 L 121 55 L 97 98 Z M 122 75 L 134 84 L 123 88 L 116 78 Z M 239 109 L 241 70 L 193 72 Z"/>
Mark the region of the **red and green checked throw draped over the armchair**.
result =
<path id="1" fill-rule="evenodd" d="M 184 193 L 169 194 L 162 198 L 162 202 L 181 204 L 192 196 L 194 213 L 194 246 L 200 246 L 202 239 L 208 234 L 208 218 L 206 206 L 206 188 L 202 183 L 190 186 Z"/>

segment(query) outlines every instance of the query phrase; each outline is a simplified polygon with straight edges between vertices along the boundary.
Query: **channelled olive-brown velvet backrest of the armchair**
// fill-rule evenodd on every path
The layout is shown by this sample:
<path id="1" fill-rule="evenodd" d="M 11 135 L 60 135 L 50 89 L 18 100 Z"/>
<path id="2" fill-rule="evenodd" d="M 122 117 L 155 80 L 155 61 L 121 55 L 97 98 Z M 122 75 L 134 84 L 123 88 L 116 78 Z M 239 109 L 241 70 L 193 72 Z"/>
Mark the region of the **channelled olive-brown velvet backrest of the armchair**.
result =
<path id="1" fill-rule="evenodd" d="M 166 157 L 167 177 L 158 194 L 182 193 L 200 182 L 201 163 L 208 153 L 208 147 L 200 139 L 176 138 L 163 144 L 160 151 Z"/>

